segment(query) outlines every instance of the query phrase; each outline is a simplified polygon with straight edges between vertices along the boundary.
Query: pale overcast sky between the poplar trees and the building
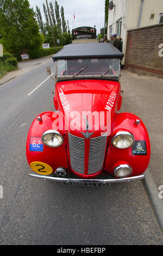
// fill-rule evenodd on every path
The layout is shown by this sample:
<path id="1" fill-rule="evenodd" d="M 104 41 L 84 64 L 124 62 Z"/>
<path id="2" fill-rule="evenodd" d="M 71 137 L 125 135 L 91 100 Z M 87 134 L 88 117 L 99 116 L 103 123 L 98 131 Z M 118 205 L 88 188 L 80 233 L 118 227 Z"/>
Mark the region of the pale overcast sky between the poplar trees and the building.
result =
<path id="1" fill-rule="evenodd" d="M 40 8 L 42 19 L 45 22 L 42 4 L 46 5 L 46 0 L 28 1 L 34 11 L 36 11 L 36 5 Z M 55 0 L 48 0 L 48 4 L 49 2 L 52 2 L 54 5 Z M 104 27 L 105 0 L 57 0 L 57 3 L 59 9 L 61 6 L 64 7 L 65 21 L 67 23 L 68 20 L 70 31 L 77 27 L 96 26 L 98 34 L 100 29 Z"/>

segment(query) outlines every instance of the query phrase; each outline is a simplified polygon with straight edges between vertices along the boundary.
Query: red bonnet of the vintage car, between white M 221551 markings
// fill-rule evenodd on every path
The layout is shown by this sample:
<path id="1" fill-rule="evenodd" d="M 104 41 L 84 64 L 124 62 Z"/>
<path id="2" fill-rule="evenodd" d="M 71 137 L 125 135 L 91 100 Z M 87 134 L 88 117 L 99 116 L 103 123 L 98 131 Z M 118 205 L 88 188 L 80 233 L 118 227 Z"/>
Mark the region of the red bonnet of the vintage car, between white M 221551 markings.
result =
<path id="1" fill-rule="evenodd" d="M 59 82 L 55 86 L 55 96 L 58 101 L 58 110 L 64 114 L 66 123 L 67 119 L 70 118 L 70 115 L 66 116 L 66 111 L 61 104 L 61 100 L 59 94 L 64 92 L 64 95 L 67 99 L 67 102 L 71 106 L 70 113 L 73 111 L 78 111 L 80 116 L 82 116 L 82 112 L 104 112 L 105 113 L 105 121 L 106 121 L 106 113 L 108 112 L 105 109 L 106 103 L 110 97 L 111 92 L 117 94 L 116 101 L 111 111 L 111 120 L 107 120 L 111 122 L 111 130 L 114 125 L 114 119 L 118 112 L 118 109 L 121 107 L 121 96 L 120 96 L 120 83 L 114 81 L 105 81 L 105 80 L 78 80 L 78 81 L 68 81 L 68 82 Z M 70 122 L 71 122 L 70 118 Z M 83 123 L 80 123 L 79 131 L 71 131 L 73 135 L 78 137 L 83 137 L 81 132 L 85 132 L 82 127 L 85 127 L 85 120 L 82 119 Z M 81 120 L 81 122 L 82 122 Z M 101 124 L 101 127 L 104 124 Z M 66 130 L 71 130 L 70 127 L 66 127 Z M 96 123 L 92 124 L 92 129 L 89 129 L 89 132 L 94 132 L 96 130 Z M 106 130 L 103 130 L 104 132 Z M 101 136 L 101 130 L 97 130 L 93 135 L 93 137 Z"/>

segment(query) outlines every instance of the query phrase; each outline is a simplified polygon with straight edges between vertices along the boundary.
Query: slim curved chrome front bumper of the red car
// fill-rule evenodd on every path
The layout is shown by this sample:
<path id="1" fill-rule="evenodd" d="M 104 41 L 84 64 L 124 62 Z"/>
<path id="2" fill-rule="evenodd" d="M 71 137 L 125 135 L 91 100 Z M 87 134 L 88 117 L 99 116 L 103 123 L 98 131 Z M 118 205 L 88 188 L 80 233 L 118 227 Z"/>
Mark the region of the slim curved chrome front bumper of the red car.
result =
<path id="1" fill-rule="evenodd" d="M 36 174 L 29 174 L 29 175 L 33 176 L 34 178 L 64 182 L 64 184 L 67 182 L 67 184 L 70 184 L 70 185 L 71 185 L 71 183 L 74 185 L 75 183 L 83 184 L 83 183 L 94 183 L 94 182 L 104 185 L 104 184 L 108 184 L 108 183 L 126 182 L 126 181 L 140 180 L 140 179 L 145 178 L 145 174 L 142 174 L 139 176 L 128 177 L 128 178 L 121 178 L 121 179 L 69 179 L 69 178 L 59 178 L 59 177 L 52 177 L 52 176 L 46 176 L 46 175 L 45 176 L 36 175 Z"/>

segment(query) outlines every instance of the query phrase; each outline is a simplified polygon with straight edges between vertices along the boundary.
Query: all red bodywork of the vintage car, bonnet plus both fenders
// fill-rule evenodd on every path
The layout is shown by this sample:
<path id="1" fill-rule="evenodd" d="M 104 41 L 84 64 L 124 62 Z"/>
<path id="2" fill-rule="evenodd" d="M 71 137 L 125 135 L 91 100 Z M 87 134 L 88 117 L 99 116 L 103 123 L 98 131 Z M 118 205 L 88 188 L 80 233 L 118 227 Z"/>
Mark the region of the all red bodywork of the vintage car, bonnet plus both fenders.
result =
<path id="1" fill-rule="evenodd" d="M 116 93 L 117 96 L 114 100 L 114 105 L 112 106 L 111 112 L 109 112 L 105 106 L 107 105 L 112 92 Z M 70 109 L 67 111 L 65 111 L 64 106 L 62 106 L 59 96 L 60 93 L 64 93 L 66 101 L 70 106 Z M 101 174 L 103 170 L 106 170 L 109 174 L 114 175 L 114 168 L 120 163 L 128 163 L 133 168 L 133 173 L 131 176 L 140 175 L 145 172 L 150 159 L 150 142 L 148 133 L 142 121 L 140 124 L 135 124 L 135 120 L 140 119 L 137 118 L 136 115 L 130 113 L 118 114 L 122 102 L 120 93 L 120 83 L 115 81 L 76 80 L 58 82 L 55 85 L 54 106 L 64 115 L 64 119 L 60 119 L 62 129 L 58 129 L 57 127 L 54 117 L 56 112 L 45 112 L 40 114 L 39 116 L 42 117 L 42 121 L 39 122 L 35 119 L 28 133 L 26 148 L 28 163 L 30 164 L 34 161 L 45 162 L 53 168 L 53 172 L 58 167 L 63 167 L 80 178 L 95 178 Z M 103 165 L 103 170 L 99 171 L 98 173 L 87 175 L 89 156 L 89 150 L 87 150 L 87 148 L 89 148 L 89 139 L 85 139 L 85 173 L 77 174 L 69 167 L 68 162 L 70 163 L 70 154 L 67 133 L 68 131 L 71 131 L 73 135 L 83 138 L 81 132 L 86 132 L 85 120 L 80 122 L 78 117 L 76 118 L 76 122 L 79 130 L 73 131 L 71 130 L 71 127 L 67 125 L 68 118 L 71 120 L 71 114 L 73 111 L 78 111 L 78 113 L 81 115 L 83 111 L 104 112 L 105 122 L 101 123 L 100 129 L 96 130 L 96 122 L 92 124 L 91 130 L 89 129 L 89 132 L 94 132 L 91 138 L 101 136 L 101 132 L 108 132 L 107 144 L 109 144 L 109 147 L 106 147 L 105 149 L 105 162 Z M 106 116 L 107 113 L 109 113 L 108 117 Z M 106 122 L 108 124 L 107 129 L 105 127 Z M 43 132 L 50 129 L 59 130 L 62 136 L 65 138 L 64 143 L 58 148 L 49 148 L 43 145 L 42 152 L 29 151 L 30 137 L 42 137 Z M 132 155 L 131 147 L 129 149 L 114 148 L 111 145 L 111 137 L 117 131 L 129 131 L 133 133 L 135 140 L 146 141 L 147 155 Z"/>

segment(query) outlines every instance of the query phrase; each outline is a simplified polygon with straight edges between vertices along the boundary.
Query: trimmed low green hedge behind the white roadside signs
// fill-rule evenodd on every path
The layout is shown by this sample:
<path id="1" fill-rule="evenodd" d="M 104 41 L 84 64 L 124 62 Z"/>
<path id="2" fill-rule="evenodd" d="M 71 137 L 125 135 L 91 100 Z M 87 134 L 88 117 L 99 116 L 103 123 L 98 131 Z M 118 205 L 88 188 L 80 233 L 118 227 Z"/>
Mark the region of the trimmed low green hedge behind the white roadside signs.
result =
<path id="1" fill-rule="evenodd" d="M 28 50 L 26 53 L 29 54 L 30 59 L 36 59 L 36 58 L 41 58 L 45 57 L 51 54 L 55 54 L 59 52 L 62 49 L 63 46 L 58 46 L 58 47 L 52 47 L 52 48 L 46 48 L 46 49 L 38 49 L 38 50 Z M 17 61 L 21 61 L 21 53 L 14 53 L 13 54 L 15 58 L 17 58 Z"/>

